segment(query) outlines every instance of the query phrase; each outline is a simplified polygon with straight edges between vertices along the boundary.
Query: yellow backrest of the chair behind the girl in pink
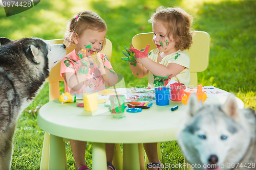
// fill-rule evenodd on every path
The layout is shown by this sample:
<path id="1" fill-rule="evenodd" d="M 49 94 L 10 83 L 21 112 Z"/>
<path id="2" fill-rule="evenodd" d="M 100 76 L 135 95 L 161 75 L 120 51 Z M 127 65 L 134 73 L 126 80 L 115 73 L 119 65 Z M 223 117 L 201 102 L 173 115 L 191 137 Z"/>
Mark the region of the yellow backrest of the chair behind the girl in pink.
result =
<path id="1" fill-rule="evenodd" d="M 53 39 L 53 40 L 47 40 L 50 44 L 62 44 L 64 39 Z M 69 54 L 75 49 L 74 46 L 70 46 L 66 48 L 66 54 Z M 106 44 L 103 48 L 103 50 L 100 52 L 105 54 L 109 60 L 111 61 L 112 56 L 112 43 L 109 39 L 106 39 Z M 58 99 L 59 98 L 59 81 L 64 81 L 63 77 L 61 77 L 60 74 L 60 63 L 55 65 L 50 72 L 50 76 L 46 80 L 46 82 L 49 82 L 49 98 L 50 101 Z"/>

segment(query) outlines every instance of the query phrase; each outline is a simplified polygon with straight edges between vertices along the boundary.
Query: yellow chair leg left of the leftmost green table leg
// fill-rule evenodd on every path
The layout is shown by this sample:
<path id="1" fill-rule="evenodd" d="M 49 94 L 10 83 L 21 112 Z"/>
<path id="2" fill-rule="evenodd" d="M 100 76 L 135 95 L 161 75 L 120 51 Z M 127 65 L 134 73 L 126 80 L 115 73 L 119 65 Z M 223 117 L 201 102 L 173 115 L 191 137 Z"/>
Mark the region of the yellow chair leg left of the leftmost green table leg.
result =
<path id="1" fill-rule="evenodd" d="M 48 170 L 49 167 L 50 134 L 45 132 L 44 144 L 42 145 L 42 156 L 40 170 Z"/>

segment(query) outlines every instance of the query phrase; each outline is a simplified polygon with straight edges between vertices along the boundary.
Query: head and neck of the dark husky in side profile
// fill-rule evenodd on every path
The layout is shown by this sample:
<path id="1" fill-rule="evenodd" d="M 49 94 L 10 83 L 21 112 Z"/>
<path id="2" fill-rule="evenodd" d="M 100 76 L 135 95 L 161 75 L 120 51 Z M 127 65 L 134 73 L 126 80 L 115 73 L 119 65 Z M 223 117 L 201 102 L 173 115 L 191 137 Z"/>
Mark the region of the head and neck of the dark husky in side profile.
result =
<path id="1" fill-rule="evenodd" d="M 40 38 L 0 38 L 0 43 L 0 69 L 13 78 L 28 103 L 42 88 L 51 68 L 66 55 L 64 44 L 50 45 Z"/>

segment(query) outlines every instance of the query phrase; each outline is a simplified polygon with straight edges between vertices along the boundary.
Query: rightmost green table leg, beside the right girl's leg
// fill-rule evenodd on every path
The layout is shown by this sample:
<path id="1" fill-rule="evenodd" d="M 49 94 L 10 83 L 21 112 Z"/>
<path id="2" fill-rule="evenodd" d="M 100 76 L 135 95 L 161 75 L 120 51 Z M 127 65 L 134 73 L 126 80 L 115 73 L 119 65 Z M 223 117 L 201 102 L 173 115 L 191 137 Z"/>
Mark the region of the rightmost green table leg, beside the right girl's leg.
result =
<path id="1" fill-rule="evenodd" d="M 140 170 L 138 143 L 123 143 L 123 170 Z"/>

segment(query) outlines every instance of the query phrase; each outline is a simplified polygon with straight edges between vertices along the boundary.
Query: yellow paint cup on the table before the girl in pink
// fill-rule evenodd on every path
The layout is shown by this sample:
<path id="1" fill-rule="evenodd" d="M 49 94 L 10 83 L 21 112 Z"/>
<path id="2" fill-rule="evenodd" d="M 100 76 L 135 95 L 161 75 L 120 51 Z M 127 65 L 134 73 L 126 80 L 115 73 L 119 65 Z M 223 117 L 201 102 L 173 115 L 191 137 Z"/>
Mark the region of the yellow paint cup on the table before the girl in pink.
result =
<path id="1" fill-rule="evenodd" d="M 82 98 L 85 111 L 96 111 L 98 109 L 98 93 L 83 93 Z"/>

